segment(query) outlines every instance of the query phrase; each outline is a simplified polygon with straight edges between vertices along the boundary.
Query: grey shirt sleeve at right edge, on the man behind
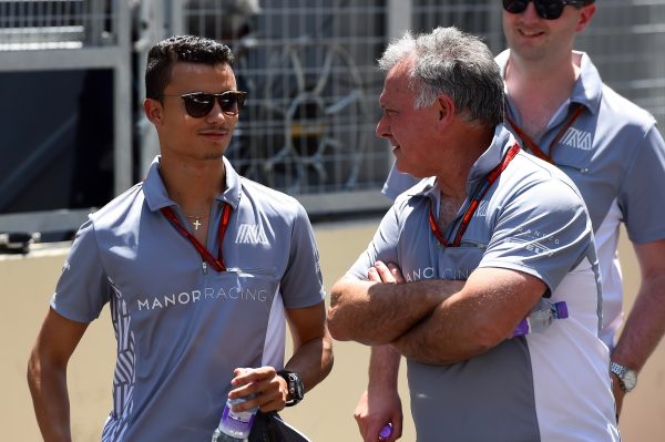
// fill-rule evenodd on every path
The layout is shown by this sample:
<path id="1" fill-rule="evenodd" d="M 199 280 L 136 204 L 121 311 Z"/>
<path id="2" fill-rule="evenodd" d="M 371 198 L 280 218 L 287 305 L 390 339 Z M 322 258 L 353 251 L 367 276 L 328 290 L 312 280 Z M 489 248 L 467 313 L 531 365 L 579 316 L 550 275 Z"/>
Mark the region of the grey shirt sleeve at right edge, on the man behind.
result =
<path id="1" fill-rule="evenodd" d="M 665 238 L 664 203 L 665 143 L 656 126 L 652 126 L 635 150 L 618 193 L 618 206 L 632 241 L 644 244 Z"/>

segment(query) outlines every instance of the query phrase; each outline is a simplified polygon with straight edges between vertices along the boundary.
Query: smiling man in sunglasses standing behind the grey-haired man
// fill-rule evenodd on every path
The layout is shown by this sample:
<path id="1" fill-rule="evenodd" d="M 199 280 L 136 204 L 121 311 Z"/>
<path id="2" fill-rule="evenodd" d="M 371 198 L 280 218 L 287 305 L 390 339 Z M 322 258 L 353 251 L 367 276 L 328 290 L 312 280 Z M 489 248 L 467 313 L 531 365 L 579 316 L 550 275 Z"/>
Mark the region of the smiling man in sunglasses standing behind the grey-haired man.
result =
<path id="1" fill-rule="evenodd" d="M 580 188 L 593 222 L 603 279 L 601 338 L 612 350 L 617 413 L 665 332 L 665 143 L 656 121 L 603 84 L 586 53 L 574 51 L 593 0 L 503 0 L 509 50 L 497 56 L 505 82 L 507 126 L 522 146 L 559 166 Z M 383 193 L 416 181 L 393 171 Z M 633 243 L 642 284 L 618 341 L 623 287 L 620 225 Z"/>

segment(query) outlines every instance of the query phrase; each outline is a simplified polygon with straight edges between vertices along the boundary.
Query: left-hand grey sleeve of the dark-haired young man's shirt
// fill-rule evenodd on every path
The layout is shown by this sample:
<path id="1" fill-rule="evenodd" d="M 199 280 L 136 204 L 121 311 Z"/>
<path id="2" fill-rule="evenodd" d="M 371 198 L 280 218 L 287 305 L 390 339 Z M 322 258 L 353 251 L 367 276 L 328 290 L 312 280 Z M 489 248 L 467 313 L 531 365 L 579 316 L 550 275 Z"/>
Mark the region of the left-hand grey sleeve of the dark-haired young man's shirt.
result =
<path id="1" fill-rule="evenodd" d="M 110 295 L 111 285 L 98 251 L 94 226 L 88 220 L 76 232 L 51 307 L 73 321 L 91 322 L 100 316 Z"/>

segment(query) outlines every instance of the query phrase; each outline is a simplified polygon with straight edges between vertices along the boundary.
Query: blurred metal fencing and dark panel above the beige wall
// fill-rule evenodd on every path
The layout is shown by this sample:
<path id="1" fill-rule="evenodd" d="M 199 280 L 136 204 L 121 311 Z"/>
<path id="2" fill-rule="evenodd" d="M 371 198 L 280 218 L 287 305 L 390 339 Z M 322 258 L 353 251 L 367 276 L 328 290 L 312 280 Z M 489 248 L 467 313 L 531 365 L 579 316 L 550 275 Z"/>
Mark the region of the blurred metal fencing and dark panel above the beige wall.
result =
<path id="1" fill-rule="evenodd" d="M 597 6 L 577 48 L 662 123 L 665 0 Z M 69 239 L 143 177 L 157 153 L 141 106 L 146 53 L 181 33 L 237 55 L 249 97 L 227 156 L 241 173 L 314 220 L 383 210 L 392 155 L 374 135 L 376 60 L 405 30 L 437 25 L 505 47 L 498 0 L 0 0 L 0 233 Z"/>

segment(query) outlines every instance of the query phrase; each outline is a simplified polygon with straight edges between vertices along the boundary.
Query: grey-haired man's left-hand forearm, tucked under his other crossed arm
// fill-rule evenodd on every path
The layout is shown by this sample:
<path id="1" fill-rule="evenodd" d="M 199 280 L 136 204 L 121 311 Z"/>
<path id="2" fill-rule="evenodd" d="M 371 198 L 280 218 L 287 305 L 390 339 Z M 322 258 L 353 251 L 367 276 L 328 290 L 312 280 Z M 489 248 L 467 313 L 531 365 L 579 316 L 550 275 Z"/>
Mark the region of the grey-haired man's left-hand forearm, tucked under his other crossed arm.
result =
<path id="1" fill-rule="evenodd" d="M 337 340 L 388 345 L 458 291 L 461 281 L 382 284 L 345 278 L 330 295 L 328 323 Z"/>

